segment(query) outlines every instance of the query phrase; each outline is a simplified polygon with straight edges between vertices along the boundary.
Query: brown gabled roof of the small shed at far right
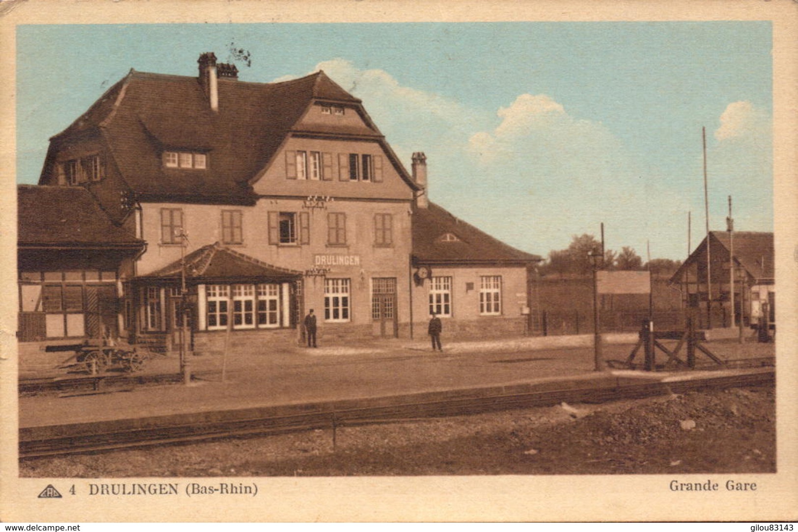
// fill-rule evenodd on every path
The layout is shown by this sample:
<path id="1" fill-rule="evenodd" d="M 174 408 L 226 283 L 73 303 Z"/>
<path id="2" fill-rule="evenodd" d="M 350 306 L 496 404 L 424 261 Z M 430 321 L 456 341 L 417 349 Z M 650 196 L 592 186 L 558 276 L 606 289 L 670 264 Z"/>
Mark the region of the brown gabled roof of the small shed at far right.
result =
<path id="1" fill-rule="evenodd" d="M 725 260 L 729 260 L 732 242 L 728 231 L 709 231 L 709 238 L 718 242 L 726 250 Z M 734 258 L 755 281 L 771 281 L 775 276 L 775 254 L 773 234 L 757 231 L 734 231 Z M 714 249 L 714 245 L 713 245 Z M 693 253 L 682 263 L 670 282 L 679 282 L 685 270 L 699 260 L 705 260 L 706 238 L 693 250 Z M 714 259 L 712 261 L 715 262 Z"/>

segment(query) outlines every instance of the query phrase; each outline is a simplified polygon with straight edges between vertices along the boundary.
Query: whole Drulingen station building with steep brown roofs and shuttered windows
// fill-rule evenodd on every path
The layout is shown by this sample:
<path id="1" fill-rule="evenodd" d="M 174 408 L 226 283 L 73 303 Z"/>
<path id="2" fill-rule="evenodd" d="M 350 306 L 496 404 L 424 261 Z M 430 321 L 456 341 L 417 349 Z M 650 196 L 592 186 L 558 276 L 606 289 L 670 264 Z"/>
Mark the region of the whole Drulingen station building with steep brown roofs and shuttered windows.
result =
<path id="1" fill-rule="evenodd" d="M 131 70 L 50 139 L 38 186 L 19 187 L 20 341 L 106 334 L 169 351 L 185 326 L 196 353 L 227 334 L 295 345 L 309 309 L 328 345 L 426 337 L 433 310 L 462 337 L 523 333 L 539 257 L 429 203 L 424 154 L 407 171 L 361 100 L 322 71 L 269 84 L 213 53 L 198 65 Z M 58 226 L 64 212 L 91 230 Z M 76 233 L 92 249 L 62 254 Z M 62 292 L 58 308 L 84 317 L 58 328 L 55 300 L 34 305 L 30 286 L 50 294 L 54 272 L 66 287 L 77 271 L 82 302 Z M 115 319 L 81 328 L 94 282 L 113 286 Z"/>

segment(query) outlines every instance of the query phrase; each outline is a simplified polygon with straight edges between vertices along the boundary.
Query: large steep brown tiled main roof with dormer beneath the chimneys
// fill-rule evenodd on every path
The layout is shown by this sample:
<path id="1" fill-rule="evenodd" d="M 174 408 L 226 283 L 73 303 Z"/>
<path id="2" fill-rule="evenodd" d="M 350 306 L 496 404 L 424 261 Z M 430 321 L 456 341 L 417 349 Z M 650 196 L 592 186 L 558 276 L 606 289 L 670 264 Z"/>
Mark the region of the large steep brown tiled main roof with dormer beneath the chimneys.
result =
<path id="1" fill-rule="evenodd" d="M 83 116 L 53 137 L 97 128 L 108 142 L 113 164 L 140 197 L 254 201 L 248 181 L 266 166 L 314 99 L 350 102 L 346 93 L 319 71 L 279 83 L 249 83 L 219 78 L 219 110 L 214 112 L 197 77 L 131 70 Z M 367 126 L 331 133 L 381 138 Z M 164 148 L 207 152 L 205 170 L 165 168 Z"/>

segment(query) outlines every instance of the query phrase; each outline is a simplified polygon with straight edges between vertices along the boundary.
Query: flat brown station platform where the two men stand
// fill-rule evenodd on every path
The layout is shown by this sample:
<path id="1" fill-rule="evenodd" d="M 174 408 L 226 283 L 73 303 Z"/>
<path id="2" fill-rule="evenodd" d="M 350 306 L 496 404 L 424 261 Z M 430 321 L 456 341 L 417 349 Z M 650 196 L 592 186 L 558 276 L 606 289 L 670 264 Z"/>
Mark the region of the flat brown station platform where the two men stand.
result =
<path id="1" fill-rule="evenodd" d="M 605 339 L 604 358 L 624 360 L 636 335 Z M 664 380 L 671 372 L 596 372 L 592 336 L 512 338 L 444 345 L 364 341 L 358 345 L 192 357 L 191 384 L 141 385 L 100 392 L 46 392 L 19 398 L 21 429 L 113 420 L 232 412 L 340 400 L 373 400 L 431 392 L 468 392 L 513 386 L 606 386 L 606 379 Z M 717 341 L 723 360 L 772 357 L 772 344 Z M 148 372 L 177 373 L 176 357 L 152 362 Z M 694 378 L 704 372 L 678 372 Z M 603 383 L 603 384 L 599 384 Z"/>

